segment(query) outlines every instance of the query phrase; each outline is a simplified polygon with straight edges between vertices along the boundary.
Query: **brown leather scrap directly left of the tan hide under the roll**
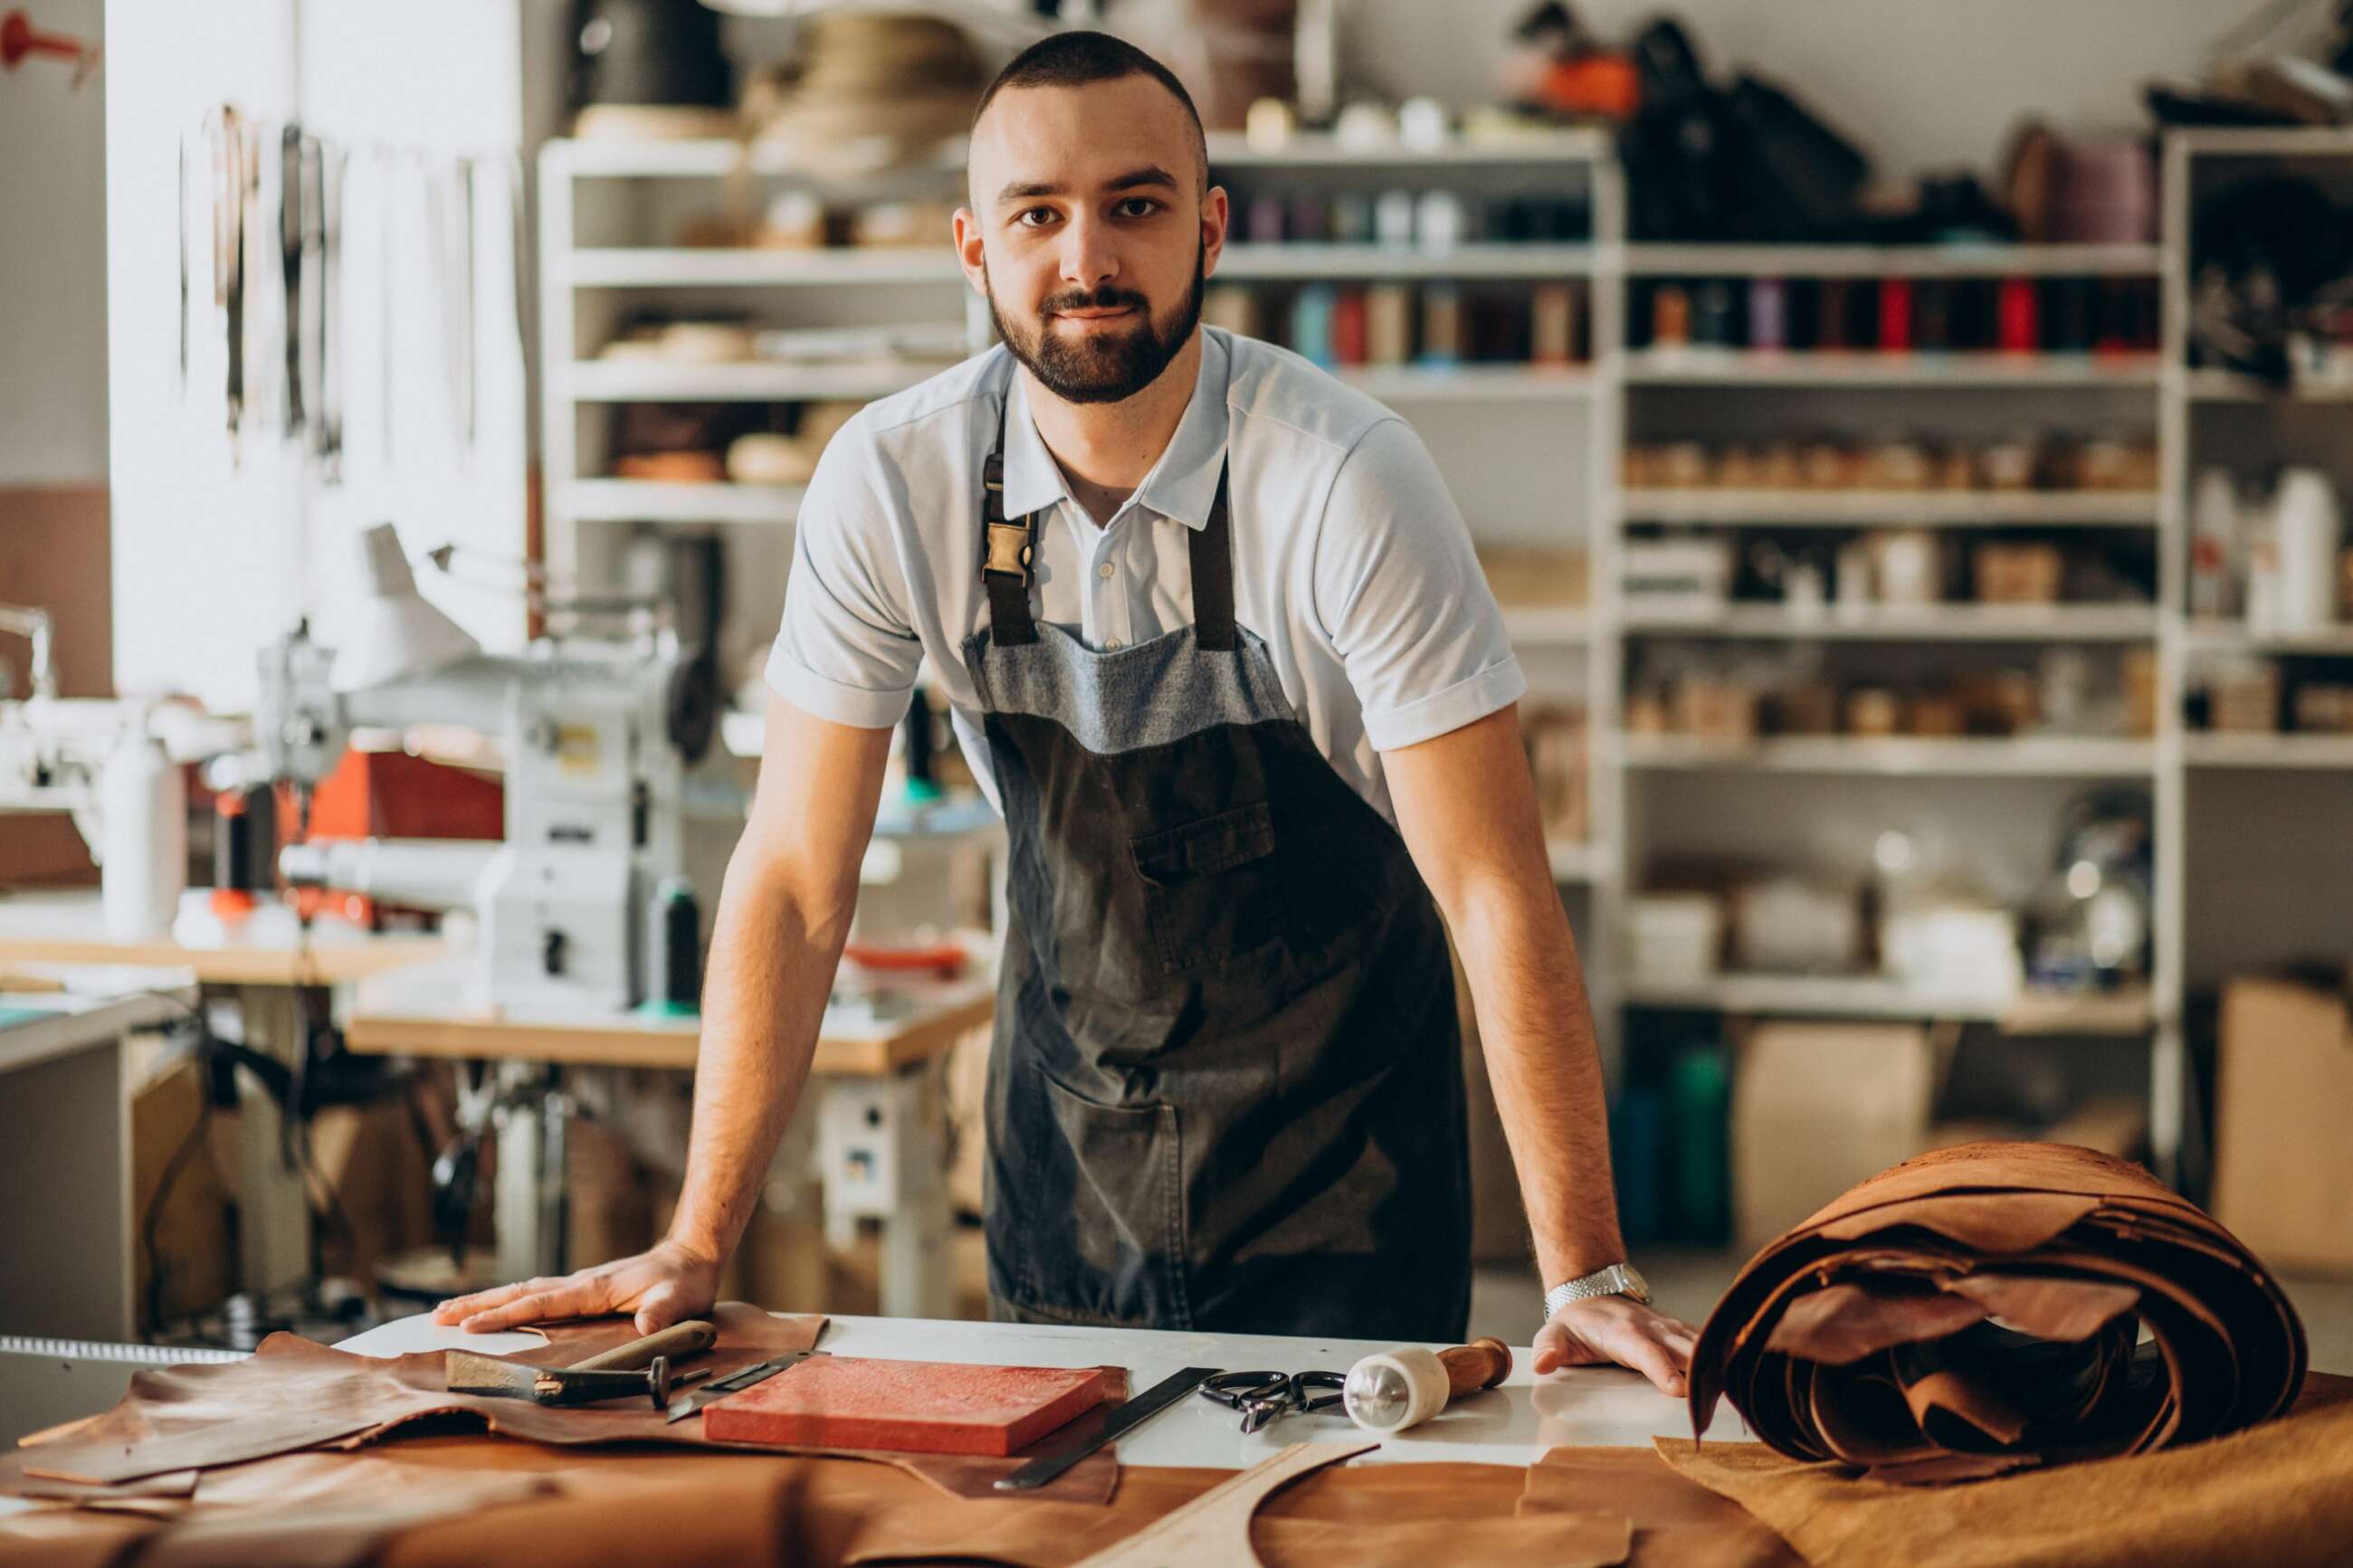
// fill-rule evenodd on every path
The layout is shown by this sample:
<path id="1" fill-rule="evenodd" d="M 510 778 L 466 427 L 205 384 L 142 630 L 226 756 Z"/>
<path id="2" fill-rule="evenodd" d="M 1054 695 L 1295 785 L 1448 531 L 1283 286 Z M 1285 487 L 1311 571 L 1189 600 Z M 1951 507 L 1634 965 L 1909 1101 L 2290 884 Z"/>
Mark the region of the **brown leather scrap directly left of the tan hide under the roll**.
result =
<path id="1" fill-rule="evenodd" d="M 1633 1523 L 1628 1568 L 1795 1568 L 1802 1561 L 1748 1509 L 1675 1474 L 1649 1448 L 1553 1448 L 1527 1467 L 1515 1514 L 1624 1516 Z"/>

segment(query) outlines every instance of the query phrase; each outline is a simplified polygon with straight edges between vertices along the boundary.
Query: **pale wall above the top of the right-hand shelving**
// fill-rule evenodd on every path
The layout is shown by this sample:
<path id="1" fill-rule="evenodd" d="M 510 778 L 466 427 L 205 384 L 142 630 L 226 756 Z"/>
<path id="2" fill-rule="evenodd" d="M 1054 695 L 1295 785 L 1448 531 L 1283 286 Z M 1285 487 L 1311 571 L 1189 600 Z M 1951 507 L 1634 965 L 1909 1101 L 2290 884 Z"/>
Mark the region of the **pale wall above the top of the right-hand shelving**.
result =
<path id="1" fill-rule="evenodd" d="M 1393 92 L 1494 96 L 1497 61 L 1534 0 L 1341 0 L 1346 47 Z M 1772 78 L 1857 139 L 1880 174 L 1988 169 L 2009 125 L 2148 122 L 2141 82 L 2193 75 L 2268 0 L 1577 0 L 1612 42 L 1680 16 L 1711 78 Z"/>

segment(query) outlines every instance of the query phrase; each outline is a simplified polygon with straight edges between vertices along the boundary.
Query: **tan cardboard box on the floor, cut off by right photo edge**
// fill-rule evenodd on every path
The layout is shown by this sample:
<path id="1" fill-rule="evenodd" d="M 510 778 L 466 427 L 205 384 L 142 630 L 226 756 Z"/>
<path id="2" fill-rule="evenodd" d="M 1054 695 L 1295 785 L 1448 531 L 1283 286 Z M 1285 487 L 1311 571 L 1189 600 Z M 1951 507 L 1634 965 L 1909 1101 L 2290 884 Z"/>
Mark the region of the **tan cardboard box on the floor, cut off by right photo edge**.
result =
<path id="1" fill-rule="evenodd" d="M 2221 992 L 2214 1218 L 2275 1269 L 2353 1274 L 2346 997 L 2242 978 Z"/>

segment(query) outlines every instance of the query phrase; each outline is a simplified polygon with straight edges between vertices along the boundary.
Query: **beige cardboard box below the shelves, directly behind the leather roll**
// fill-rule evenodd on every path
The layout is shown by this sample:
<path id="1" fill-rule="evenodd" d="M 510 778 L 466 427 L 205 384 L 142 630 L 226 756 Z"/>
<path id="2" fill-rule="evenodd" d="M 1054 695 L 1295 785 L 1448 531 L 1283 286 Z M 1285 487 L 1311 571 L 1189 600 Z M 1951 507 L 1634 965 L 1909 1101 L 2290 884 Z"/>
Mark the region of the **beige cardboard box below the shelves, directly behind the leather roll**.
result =
<path id="1" fill-rule="evenodd" d="M 1937 1072 L 1908 1023 L 1760 1023 L 1732 1074 L 1732 1229 L 1755 1251 L 1929 1147 Z"/>

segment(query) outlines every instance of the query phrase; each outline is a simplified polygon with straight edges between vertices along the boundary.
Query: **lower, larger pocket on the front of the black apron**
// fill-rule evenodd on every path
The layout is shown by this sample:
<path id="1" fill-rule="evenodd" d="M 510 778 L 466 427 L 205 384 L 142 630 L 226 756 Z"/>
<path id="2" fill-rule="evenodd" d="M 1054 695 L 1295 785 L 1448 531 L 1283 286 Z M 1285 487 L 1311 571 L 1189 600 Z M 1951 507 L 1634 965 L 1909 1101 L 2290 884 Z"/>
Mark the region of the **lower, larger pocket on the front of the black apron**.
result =
<path id="1" fill-rule="evenodd" d="M 1040 1077 L 1075 1180 L 1068 1218 L 1038 1215 L 1031 1276 L 1040 1300 L 1028 1305 L 1078 1321 L 1191 1328 L 1176 1107 L 1096 1105 Z"/>

